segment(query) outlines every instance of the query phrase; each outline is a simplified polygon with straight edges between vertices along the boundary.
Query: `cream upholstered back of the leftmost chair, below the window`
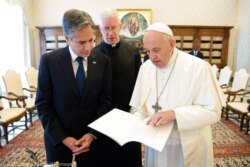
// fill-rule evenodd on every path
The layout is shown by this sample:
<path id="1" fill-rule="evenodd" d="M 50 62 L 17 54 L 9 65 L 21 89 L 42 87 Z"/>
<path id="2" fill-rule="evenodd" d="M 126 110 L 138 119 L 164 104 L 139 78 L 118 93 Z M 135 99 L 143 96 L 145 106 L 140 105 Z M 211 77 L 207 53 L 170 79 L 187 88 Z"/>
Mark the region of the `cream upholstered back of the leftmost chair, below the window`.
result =
<path id="1" fill-rule="evenodd" d="M 18 96 L 24 95 L 20 74 L 14 70 L 8 70 L 3 75 L 3 81 L 9 97 L 11 97 L 9 93 L 14 93 Z"/>

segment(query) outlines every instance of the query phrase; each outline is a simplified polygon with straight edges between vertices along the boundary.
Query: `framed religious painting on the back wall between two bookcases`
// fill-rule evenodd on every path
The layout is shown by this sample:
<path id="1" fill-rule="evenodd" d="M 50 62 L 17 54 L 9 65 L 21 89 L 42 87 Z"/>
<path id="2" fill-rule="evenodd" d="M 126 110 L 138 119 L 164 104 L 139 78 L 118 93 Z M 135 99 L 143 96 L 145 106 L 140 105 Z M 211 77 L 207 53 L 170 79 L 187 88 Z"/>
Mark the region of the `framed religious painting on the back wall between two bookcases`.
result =
<path id="1" fill-rule="evenodd" d="M 121 39 L 142 50 L 144 30 L 151 24 L 151 9 L 117 9 L 122 23 Z"/>

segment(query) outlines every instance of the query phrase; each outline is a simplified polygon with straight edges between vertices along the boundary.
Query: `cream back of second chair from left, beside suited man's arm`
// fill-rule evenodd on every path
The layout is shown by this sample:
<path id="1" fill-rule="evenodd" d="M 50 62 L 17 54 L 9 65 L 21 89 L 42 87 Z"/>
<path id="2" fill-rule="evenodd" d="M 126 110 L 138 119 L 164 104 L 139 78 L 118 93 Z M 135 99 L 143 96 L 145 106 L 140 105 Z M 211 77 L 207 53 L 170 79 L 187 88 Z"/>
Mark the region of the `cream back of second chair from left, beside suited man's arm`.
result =
<path id="1" fill-rule="evenodd" d="M 34 67 L 29 67 L 25 72 L 26 79 L 30 88 L 37 87 L 38 70 Z"/>

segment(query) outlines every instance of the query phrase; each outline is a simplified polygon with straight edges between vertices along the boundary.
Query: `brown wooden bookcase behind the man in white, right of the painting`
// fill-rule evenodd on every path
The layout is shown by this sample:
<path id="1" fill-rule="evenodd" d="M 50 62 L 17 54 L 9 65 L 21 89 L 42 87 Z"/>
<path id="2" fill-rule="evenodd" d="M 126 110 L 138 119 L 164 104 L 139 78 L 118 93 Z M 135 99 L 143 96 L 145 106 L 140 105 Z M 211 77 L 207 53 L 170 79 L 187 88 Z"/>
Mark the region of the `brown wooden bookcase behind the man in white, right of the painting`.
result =
<path id="1" fill-rule="evenodd" d="M 228 26 L 170 26 L 173 30 L 176 47 L 190 52 L 194 41 L 198 41 L 204 60 L 223 68 L 227 64 L 230 29 Z"/>

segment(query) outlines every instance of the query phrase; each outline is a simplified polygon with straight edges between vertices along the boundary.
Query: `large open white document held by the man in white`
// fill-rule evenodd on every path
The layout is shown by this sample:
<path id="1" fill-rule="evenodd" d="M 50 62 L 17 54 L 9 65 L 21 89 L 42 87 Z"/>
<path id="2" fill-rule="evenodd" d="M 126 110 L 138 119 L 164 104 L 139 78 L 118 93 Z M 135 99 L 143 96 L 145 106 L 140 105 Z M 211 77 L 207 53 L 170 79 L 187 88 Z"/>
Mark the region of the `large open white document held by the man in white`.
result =
<path id="1" fill-rule="evenodd" d="M 146 122 L 147 119 L 142 120 L 139 116 L 113 109 L 88 126 L 107 135 L 121 146 L 137 141 L 161 152 L 171 133 L 173 123 L 153 127 Z"/>

